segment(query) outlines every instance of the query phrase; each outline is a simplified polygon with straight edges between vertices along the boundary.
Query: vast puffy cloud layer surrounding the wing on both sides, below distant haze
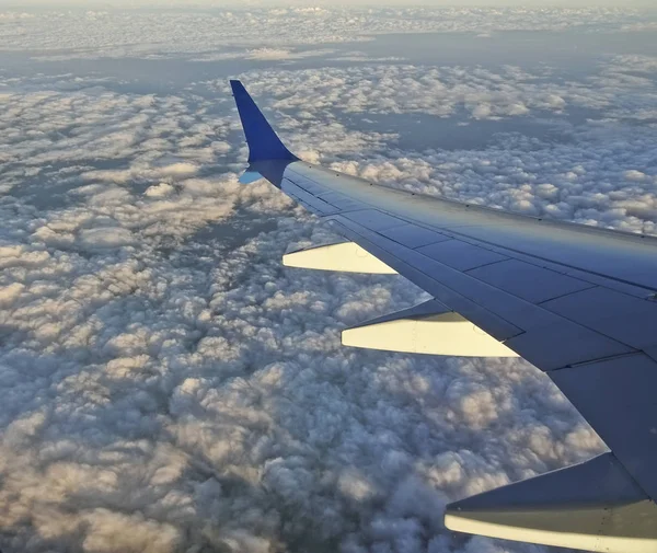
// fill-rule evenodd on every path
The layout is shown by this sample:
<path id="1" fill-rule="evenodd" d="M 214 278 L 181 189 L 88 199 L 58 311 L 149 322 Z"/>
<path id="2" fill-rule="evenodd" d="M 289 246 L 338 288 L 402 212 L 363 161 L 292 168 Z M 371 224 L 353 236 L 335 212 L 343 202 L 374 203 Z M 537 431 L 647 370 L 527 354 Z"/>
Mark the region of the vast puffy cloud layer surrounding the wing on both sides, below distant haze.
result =
<path id="1" fill-rule="evenodd" d="M 267 48 L 254 61 L 292 51 Z M 309 161 L 654 233 L 652 64 L 242 78 Z M 268 184 L 238 184 L 224 79 L 159 94 L 99 74 L 0 84 L 3 551 L 535 551 L 446 531 L 446 503 L 604 446 L 522 360 L 343 348 L 345 326 L 425 295 L 280 265 L 334 237 Z M 403 130 L 426 131 L 419 118 L 422 147 Z"/>

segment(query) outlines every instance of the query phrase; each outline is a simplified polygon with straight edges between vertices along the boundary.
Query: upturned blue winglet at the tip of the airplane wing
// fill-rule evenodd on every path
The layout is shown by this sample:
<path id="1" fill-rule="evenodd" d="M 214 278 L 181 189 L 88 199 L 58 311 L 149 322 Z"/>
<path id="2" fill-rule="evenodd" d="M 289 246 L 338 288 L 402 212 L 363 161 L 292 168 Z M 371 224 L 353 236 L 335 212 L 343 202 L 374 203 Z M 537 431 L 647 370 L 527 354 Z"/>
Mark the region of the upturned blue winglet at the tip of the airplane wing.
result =
<path id="1" fill-rule="evenodd" d="M 297 161 L 299 158 L 290 152 L 276 136 L 244 85 L 240 81 L 230 81 L 230 85 L 249 145 L 249 163 L 264 160 Z"/>

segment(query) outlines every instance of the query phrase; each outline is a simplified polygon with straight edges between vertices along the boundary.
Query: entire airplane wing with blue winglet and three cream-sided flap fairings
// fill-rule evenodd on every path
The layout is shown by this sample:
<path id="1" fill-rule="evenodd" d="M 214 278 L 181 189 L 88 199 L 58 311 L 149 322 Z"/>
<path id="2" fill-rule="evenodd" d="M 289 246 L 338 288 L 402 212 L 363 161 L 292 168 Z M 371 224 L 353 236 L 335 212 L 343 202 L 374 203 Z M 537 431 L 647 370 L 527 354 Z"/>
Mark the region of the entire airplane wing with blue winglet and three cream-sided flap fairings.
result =
<path id="1" fill-rule="evenodd" d="M 246 175 L 345 238 L 286 265 L 397 273 L 433 296 L 343 343 L 433 355 L 521 356 L 610 451 L 447 507 L 449 529 L 604 552 L 657 552 L 657 239 L 394 191 L 307 163 L 231 81 Z M 246 177 L 249 180 L 249 177 Z"/>

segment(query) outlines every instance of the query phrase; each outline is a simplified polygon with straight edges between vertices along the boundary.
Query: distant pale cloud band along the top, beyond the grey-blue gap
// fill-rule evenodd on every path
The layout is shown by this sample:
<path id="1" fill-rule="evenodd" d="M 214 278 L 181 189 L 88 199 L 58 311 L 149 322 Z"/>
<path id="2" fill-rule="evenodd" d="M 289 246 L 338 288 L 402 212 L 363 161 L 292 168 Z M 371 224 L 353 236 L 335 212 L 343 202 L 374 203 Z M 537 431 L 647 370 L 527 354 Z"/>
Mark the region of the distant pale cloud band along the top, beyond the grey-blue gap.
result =
<path id="1" fill-rule="evenodd" d="M 222 8 L 222 7 L 219 7 Z M 1 9 L 1 7 L 0 7 Z M 382 33 L 621 30 L 646 25 L 641 11 L 598 8 L 344 8 L 0 11 L 0 48 L 38 59 L 212 55 L 226 46 L 342 43 Z M 89 33 L 93 27 L 94 32 Z M 643 28 L 643 26 L 638 27 Z M 41 53 L 41 54 L 39 54 Z M 206 58 L 207 59 L 207 58 Z"/>

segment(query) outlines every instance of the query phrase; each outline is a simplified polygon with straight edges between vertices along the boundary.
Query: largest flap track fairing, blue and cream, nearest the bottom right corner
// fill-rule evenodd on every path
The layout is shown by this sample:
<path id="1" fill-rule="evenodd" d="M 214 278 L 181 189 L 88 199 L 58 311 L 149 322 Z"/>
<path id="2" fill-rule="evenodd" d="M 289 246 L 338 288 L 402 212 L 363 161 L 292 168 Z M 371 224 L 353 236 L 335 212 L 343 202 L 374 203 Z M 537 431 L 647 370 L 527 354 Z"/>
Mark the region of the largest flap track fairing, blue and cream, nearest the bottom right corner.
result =
<path id="1" fill-rule="evenodd" d="M 657 552 L 657 506 L 613 453 L 447 506 L 448 529 L 606 553 Z"/>

